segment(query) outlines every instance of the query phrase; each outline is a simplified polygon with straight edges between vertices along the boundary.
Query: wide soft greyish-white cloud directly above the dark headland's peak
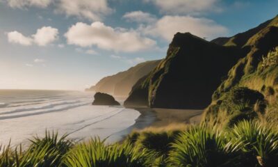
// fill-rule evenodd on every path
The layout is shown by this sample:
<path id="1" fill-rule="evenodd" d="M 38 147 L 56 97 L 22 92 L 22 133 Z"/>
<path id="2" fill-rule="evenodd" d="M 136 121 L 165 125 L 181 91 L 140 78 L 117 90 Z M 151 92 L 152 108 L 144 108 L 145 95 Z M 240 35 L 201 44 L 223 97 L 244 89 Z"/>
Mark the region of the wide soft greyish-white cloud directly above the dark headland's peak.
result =
<path id="1" fill-rule="evenodd" d="M 164 38 L 167 41 L 171 41 L 177 32 L 190 32 L 193 35 L 208 39 L 226 35 L 228 32 L 227 28 L 211 19 L 169 15 L 162 17 L 152 25 L 140 27 L 140 31 Z"/>

